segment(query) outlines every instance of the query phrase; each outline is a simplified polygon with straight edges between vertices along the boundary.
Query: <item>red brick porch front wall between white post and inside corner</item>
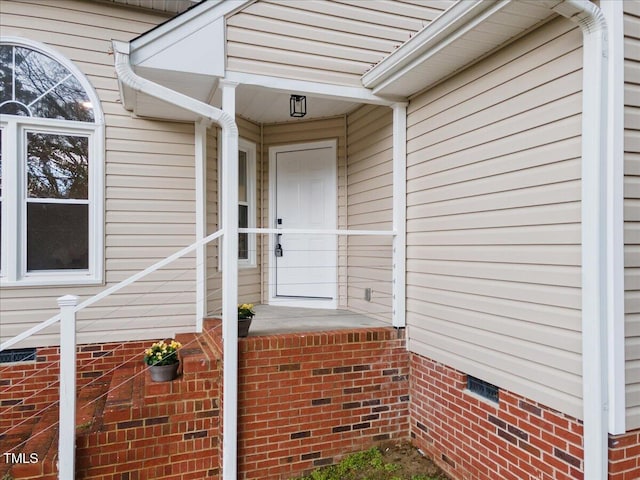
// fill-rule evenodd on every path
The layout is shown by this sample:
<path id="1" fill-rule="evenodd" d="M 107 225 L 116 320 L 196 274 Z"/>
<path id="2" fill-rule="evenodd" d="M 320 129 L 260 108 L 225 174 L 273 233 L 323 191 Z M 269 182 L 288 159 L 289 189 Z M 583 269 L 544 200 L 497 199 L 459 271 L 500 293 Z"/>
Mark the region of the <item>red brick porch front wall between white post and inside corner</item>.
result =
<path id="1" fill-rule="evenodd" d="M 288 479 L 377 442 L 407 439 L 409 364 L 398 333 L 241 340 L 239 478 Z"/>

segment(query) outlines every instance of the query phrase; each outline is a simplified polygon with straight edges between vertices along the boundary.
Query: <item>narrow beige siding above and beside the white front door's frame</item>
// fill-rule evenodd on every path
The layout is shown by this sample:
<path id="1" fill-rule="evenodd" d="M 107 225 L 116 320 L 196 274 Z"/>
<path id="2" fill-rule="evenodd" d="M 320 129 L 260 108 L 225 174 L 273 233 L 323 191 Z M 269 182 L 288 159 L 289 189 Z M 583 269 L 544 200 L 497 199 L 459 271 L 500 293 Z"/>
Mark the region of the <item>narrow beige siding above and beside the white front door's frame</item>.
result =
<path id="1" fill-rule="evenodd" d="M 316 142 L 320 140 L 337 140 L 337 186 L 338 186 L 338 228 L 346 228 L 346 120 L 344 116 L 320 120 L 303 120 L 263 126 L 263 155 L 262 155 L 262 200 L 261 219 L 264 227 L 269 224 L 269 147 Z M 293 228 L 293 227 L 292 227 Z M 268 249 L 266 235 L 262 235 L 263 251 Z M 346 245 L 344 237 L 338 239 L 338 303 L 346 306 Z M 262 300 L 266 303 L 269 298 L 269 258 L 262 259 Z"/>

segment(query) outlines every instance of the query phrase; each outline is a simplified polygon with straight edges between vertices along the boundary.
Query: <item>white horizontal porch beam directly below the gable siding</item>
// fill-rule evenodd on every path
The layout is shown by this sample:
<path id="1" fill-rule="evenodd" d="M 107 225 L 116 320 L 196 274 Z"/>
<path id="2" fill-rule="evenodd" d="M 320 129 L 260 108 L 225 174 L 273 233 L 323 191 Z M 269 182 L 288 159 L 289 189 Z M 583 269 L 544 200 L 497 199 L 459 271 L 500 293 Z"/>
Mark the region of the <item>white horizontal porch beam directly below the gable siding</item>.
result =
<path id="1" fill-rule="evenodd" d="M 310 82 L 307 80 L 295 80 L 292 78 L 272 77 L 269 75 L 257 75 L 253 73 L 234 72 L 227 70 L 225 78 L 240 85 L 255 85 L 270 88 L 272 90 L 292 93 L 306 93 L 320 98 L 332 100 L 349 100 L 373 105 L 390 107 L 395 103 L 404 102 L 404 97 L 390 98 L 380 97 L 371 93 L 371 90 L 362 87 L 347 85 L 333 85 L 329 83 Z"/>

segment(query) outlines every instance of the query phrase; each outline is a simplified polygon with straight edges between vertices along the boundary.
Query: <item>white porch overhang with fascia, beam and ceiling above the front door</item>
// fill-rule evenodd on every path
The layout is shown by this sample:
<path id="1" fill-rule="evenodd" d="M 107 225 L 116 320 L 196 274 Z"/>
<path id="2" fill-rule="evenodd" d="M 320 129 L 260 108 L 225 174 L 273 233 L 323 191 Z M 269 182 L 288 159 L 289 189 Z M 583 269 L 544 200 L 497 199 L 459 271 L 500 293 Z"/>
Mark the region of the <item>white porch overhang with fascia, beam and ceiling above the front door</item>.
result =
<path id="1" fill-rule="evenodd" d="M 343 115 L 361 104 L 391 106 L 401 96 L 377 96 L 361 86 L 339 85 L 233 71 L 226 67 L 226 18 L 254 0 L 207 0 L 128 43 L 132 70 L 202 103 L 220 107 L 221 81 L 237 83 L 236 112 L 257 123 L 290 121 L 289 96 L 308 96 L 305 120 Z M 120 82 L 123 106 L 146 118 L 194 122 L 185 110 Z"/>

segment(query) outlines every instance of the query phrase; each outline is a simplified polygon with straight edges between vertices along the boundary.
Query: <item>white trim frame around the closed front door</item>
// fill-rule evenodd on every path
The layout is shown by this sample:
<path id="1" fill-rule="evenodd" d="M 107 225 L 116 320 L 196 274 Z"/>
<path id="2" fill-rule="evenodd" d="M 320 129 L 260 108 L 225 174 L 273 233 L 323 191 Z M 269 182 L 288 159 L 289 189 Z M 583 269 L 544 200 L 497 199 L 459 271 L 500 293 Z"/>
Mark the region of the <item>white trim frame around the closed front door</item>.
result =
<path id="1" fill-rule="evenodd" d="M 337 171 L 337 141 L 333 140 L 322 140 L 318 142 L 307 142 L 307 143 L 296 143 L 289 145 L 278 145 L 274 147 L 269 147 L 269 228 L 277 228 L 276 226 L 276 155 L 282 152 L 296 152 L 296 151 L 304 151 L 310 149 L 319 149 L 319 148 L 329 148 L 331 149 L 331 154 L 336 161 L 332 163 L 331 169 L 331 177 L 333 178 L 332 182 L 332 199 L 334 210 L 334 218 L 335 225 L 333 225 L 333 229 L 337 228 L 338 221 L 338 171 Z M 288 225 L 290 228 L 295 228 L 295 226 Z M 275 236 L 269 235 L 269 251 L 268 251 L 268 268 L 269 268 L 269 288 L 268 288 L 268 302 L 270 305 L 281 305 L 281 306 L 290 306 L 290 307 L 304 307 L 304 308 L 326 308 L 326 309 L 336 309 L 338 308 L 338 276 L 336 273 L 335 282 L 334 282 L 334 292 L 332 299 L 317 299 L 317 298 L 289 298 L 289 297 L 277 297 L 275 295 L 275 285 L 276 285 L 276 261 L 274 256 L 274 248 L 275 248 Z M 336 239 L 336 246 L 337 246 Z M 338 252 L 336 250 L 335 257 L 335 265 L 338 265 Z M 337 268 L 336 268 L 337 272 Z"/>

